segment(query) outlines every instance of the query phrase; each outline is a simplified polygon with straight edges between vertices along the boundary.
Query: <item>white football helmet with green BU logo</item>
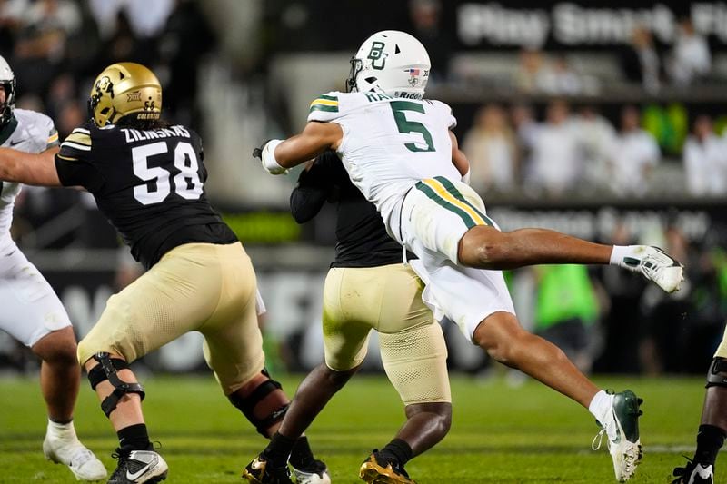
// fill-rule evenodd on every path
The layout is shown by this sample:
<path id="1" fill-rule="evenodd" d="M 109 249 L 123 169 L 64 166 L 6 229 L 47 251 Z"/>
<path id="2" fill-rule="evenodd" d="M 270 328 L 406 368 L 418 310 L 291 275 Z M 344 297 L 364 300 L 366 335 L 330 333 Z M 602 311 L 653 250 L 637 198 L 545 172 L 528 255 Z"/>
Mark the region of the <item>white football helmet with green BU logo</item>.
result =
<path id="1" fill-rule="evenodd" d="M 349 92 L 422 99 L 432 63 L 421 42 L 398 30 L 370 36 L 351 59 Z"/>

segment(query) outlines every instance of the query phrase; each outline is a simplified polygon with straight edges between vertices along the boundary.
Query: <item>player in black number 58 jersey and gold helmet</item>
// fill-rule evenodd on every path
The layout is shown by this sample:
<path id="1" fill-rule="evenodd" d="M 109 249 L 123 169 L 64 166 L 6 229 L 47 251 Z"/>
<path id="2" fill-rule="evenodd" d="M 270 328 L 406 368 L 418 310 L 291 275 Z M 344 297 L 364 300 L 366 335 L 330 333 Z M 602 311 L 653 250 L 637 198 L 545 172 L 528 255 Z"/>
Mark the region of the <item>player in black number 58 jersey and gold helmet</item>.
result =
<path id="1" fill-rule="evenodd" d="M 0 151 L 0 180 L 81 186 L 147 269 L 112 296 L 78 344 L 101 408 L 116 430 L 118 467 L 110 483 L 158 482 L 167 464 L 144 424 L 144 388 L 129 363 L 187 331 L 204 335 L 204 356 L 224 394 L 270 437 L 289 400 L 264 370 L 253 266 L 207 201 L 199 136 L 164 123 L 162 88 L 140 64 L 107 67 L 95 80 L 92 119 L 60 151 Z M 291 456 L 298 482 L 330 482 L 307 440 Z"/>

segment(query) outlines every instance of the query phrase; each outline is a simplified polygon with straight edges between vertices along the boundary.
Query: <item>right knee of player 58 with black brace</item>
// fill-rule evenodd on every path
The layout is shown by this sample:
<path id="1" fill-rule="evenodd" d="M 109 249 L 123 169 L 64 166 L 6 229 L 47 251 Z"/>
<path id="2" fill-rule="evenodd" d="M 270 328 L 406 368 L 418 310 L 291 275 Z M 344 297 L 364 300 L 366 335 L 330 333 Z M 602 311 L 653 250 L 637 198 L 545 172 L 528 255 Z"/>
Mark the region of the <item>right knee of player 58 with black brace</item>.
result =
<path id="1" fill-rule="evenodd" d="M 250 423 L 254 425 L 255 430 L 257 430 L 260 435 L 263 437 L 269 437 L 268 429 L 283 420 L 290 403 L 284 396 L 283 385 L 270 378 L 270 374 L 267 370 L 263 369 L 262 374 L 267 377 L 267 380 L 264 380 L 262 383 L 257 385 L 257 387 L 245 396 L 240 395 L 238 392 L 234 392 L 228 395 L 227 398 L 236 409 L 243 412 L 245 418 L 250 420 Z M 264 400 L 276 391 L 281 394 L 281 398 L 274 399 L 274 401 L 268 402 L 267 405 L 264 405 Z M 282 400 L 284 400 L 284 403 Z M 262 415 L 262 417 L 260 417 L 260 415 Z"/>

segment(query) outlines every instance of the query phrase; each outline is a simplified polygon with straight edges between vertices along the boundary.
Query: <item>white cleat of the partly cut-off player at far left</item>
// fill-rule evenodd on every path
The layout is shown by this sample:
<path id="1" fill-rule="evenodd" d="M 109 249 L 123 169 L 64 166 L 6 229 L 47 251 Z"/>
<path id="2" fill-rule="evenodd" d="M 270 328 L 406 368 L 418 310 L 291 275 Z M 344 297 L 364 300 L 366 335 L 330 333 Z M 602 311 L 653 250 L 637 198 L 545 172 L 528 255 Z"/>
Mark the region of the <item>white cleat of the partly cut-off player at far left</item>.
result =
<path id="1" fill-rule="evenodd" d="M 72 434 L 69 432 L 69 435 L 45 434 L 43 453 L 45 459 L 68 466 L 76 480 L 106 479 L 104 464 L 96 459 L 94 452 L 84 447 L 84 444 L 75 437 L 75 432 Z"/>

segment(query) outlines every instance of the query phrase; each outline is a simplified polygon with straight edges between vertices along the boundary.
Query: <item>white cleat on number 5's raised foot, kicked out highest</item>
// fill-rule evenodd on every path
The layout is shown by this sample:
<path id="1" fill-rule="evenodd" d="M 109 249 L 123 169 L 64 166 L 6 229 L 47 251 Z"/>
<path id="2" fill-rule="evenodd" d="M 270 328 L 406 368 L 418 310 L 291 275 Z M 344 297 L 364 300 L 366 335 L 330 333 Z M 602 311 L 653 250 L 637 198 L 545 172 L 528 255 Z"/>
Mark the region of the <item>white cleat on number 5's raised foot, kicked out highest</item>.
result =
<path id="1" fill-rule="evenodd" d="M 639 245 L 634 252 L 623 258 L 622 266 L 654 282 L 666 292 L 679 291 L 684 281 L 681 263 L 658 247 Z"/>

